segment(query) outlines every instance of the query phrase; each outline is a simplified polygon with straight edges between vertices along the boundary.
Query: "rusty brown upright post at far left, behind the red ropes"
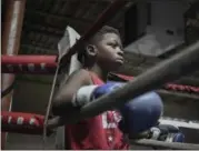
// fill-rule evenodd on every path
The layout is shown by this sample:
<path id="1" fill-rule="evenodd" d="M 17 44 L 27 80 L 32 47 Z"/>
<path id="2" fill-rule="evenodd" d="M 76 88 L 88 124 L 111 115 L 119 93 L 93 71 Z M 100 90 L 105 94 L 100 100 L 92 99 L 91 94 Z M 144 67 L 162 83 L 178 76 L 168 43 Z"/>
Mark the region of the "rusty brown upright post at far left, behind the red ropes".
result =
<path id="1" fill-rule="evenodd" d="M 20 37 L 23 24 L 26 0 L 6 0 L 4 22 L 2 30 L 2 54 L 18 54 L 20 48 Z M 1 74 L 2 91 L 9 88 L 14 81 L 14 74 Z M 10 111 L 12 104 L 12 93 L 6 94 L 1 100 L 1 110 Z M 7 133 L 1 133 L 1 149 L 7 142 Z"/>

